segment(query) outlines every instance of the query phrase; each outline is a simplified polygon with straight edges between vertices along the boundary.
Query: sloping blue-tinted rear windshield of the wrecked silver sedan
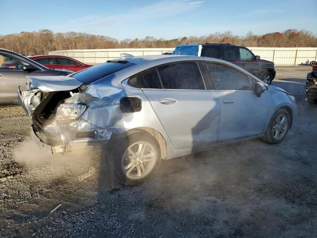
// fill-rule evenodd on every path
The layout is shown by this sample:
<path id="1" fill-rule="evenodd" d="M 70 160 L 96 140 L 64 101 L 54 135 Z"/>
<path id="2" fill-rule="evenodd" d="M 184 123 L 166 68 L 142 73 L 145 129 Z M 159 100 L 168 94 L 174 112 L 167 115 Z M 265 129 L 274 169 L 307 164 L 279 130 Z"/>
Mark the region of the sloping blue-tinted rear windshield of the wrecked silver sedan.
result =
<path id="1" fill-rule="evenodd" d="M 85 85 L 89 85 L 101 78 L 104 78 L 122 69 L 128 68 L 132 65 L 135 65 L 135 63 L 106 62 L 74 73 L 71 75 L 71 77 L 77 79 Z"/>

